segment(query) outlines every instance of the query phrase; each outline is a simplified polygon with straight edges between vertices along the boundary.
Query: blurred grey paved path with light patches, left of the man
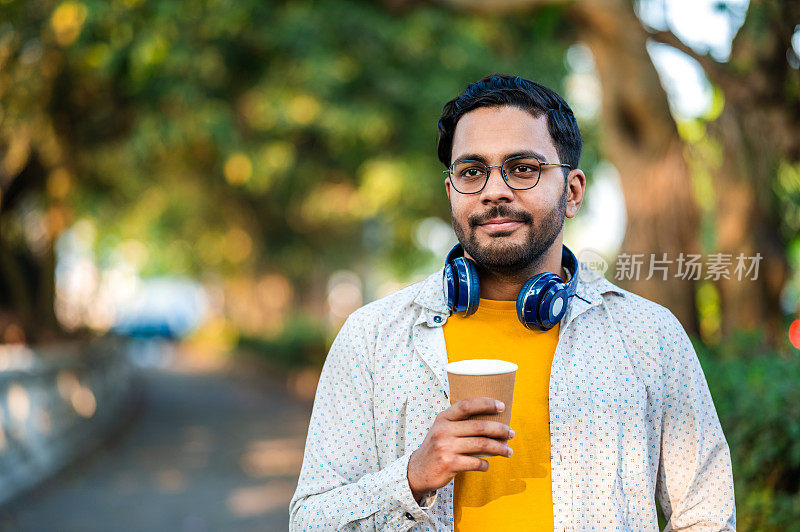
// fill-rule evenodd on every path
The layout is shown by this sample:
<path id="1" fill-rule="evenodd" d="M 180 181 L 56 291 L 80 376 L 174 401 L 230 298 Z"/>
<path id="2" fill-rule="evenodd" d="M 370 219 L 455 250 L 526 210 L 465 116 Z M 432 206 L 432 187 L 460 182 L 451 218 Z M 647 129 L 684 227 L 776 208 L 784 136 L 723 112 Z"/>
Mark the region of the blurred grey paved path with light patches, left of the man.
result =
<path id="1" fill-rule="evenodd" d="M 280 531 L 311 403 L 254 371 L 142 371 L 133 423 L 0 514 L 25 531 Z"/>

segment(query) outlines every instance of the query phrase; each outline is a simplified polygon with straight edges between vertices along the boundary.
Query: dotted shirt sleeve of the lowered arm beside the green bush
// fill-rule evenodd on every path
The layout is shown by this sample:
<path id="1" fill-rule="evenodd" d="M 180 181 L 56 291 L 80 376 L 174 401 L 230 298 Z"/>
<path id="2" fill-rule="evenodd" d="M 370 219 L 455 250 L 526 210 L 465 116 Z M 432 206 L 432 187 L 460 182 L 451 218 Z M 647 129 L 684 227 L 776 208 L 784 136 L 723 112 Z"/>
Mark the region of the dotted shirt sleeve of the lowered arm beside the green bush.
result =
<path id="1" fill-rule="evenodd" d="M 694 347 L 672 312 L 666 314 L 656 481 L 664 531 L 736 530 L 730 450 Z"/>

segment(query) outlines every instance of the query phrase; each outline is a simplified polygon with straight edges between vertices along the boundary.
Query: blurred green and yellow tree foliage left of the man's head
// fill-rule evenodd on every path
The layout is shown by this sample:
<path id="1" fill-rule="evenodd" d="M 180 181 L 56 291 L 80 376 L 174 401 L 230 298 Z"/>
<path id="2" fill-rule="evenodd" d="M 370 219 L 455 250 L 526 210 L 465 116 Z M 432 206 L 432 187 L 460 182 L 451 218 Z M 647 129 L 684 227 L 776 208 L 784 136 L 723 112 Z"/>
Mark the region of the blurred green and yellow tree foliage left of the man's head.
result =
<path id="1" fill-rule="evenodd" d="M 0 19 L 0 57 L 41 86 L 16 112 L 57 124 L 69 203 L 99 241 L 145 242 L 145 274 L 268 269 L 297 286 L 365 252 L 408 257 L 381 266 L 411 273 L 414 222 L 449 217 L 442 105 L 495 71 L 563 89 L 569 44 L 560 9 L 85 0 L 3 4 Z M 23 60 L 30 42 L 42 52 Z M 365 249 L 373 217 L 386 232 Z M 249 247 L 230 243 L 241 231 Z"/>

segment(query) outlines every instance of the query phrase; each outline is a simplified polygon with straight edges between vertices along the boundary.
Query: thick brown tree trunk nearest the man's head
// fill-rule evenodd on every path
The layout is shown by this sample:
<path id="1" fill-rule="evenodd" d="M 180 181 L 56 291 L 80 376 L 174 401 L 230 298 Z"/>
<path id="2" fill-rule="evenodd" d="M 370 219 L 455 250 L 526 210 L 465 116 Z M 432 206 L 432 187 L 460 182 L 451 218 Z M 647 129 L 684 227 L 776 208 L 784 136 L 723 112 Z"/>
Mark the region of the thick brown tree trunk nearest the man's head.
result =
<path id="1" fill-rule="evenodd" d="M 567 11 L 592 50 L 603 91 L 603 151 L 620 173 L 628 227 L 621 253 L 641 255 L 642 270 L 620 281 L 667 308 L 696 333 L 695 286 L 676 277 L 681 253 L 699 252 L 699 210 L 684 145 L 633 11 L 614 1 L 580 2 Z M 591 193 L 591 192 L 590 192 Z M 654 271 L 666 258 L 667 274 Z"/>

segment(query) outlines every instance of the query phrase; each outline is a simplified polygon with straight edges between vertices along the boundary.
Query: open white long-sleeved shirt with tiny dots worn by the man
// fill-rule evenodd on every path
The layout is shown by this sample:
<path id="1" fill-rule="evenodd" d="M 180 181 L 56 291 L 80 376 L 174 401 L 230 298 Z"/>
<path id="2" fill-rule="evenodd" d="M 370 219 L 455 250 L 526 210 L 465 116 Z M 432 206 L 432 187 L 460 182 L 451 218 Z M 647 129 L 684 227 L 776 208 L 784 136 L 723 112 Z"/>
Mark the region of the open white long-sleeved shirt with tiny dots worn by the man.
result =
<path id="1" fill-rule="evenodd" d="M 580 264 L 549 385 L 555 530 L 735 530 L 730 451 L 665 307 Z M 453 530 L 453 481 L 421 501 L 408 460 L 450 406 L 442 270 L 345 321 L 325 360 L 293 531 Z"/>

